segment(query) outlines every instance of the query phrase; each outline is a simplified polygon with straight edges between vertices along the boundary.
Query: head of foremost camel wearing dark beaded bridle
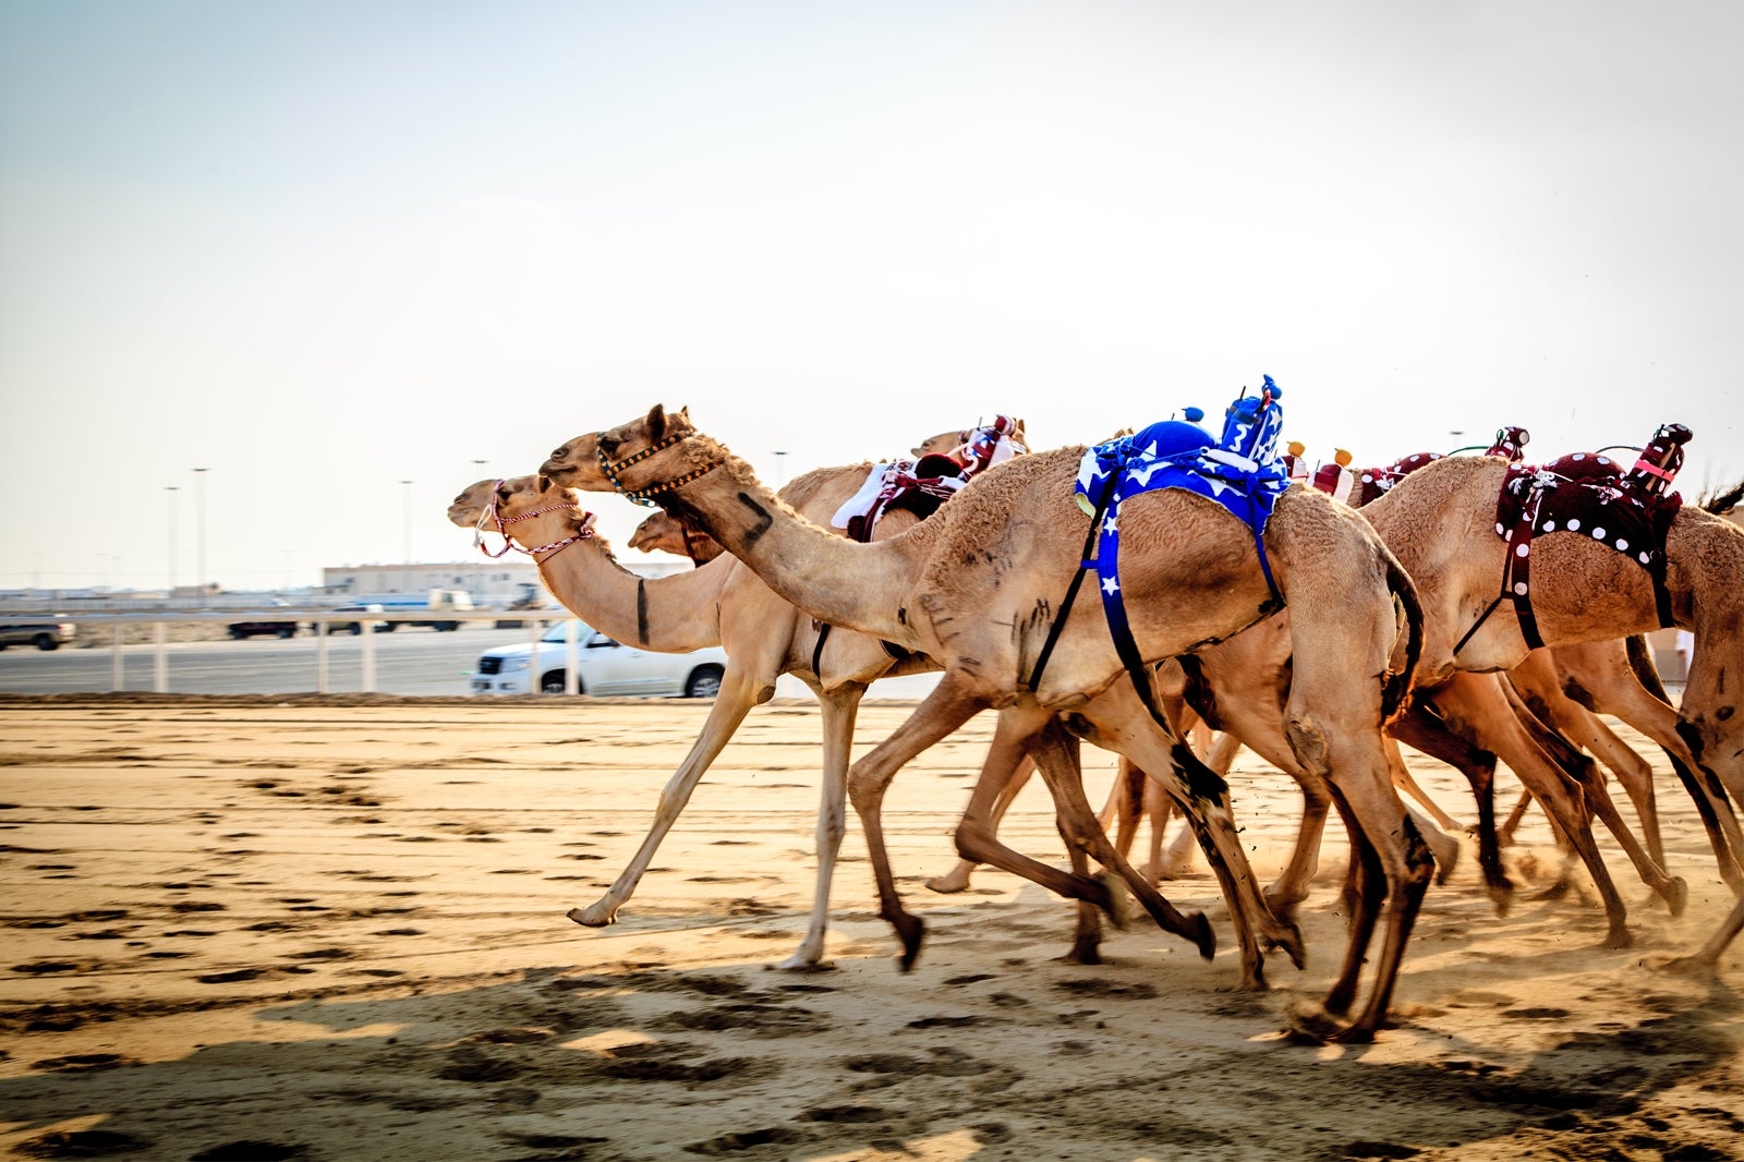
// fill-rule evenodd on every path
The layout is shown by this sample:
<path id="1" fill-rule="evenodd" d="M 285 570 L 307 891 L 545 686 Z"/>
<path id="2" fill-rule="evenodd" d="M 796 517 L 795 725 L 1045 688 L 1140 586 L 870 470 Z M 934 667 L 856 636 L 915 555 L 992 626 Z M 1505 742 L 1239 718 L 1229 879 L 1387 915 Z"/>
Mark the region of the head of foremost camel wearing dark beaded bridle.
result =
<path id="1" fill-rule="evenodd" d="M 582 492 L 617 492 L 640 504 L 719 468 L 726 448 L 691 424 L 687 408 L 654 408 L 642 419 L 576 436 L 551 452 L 539 473 Z"/>

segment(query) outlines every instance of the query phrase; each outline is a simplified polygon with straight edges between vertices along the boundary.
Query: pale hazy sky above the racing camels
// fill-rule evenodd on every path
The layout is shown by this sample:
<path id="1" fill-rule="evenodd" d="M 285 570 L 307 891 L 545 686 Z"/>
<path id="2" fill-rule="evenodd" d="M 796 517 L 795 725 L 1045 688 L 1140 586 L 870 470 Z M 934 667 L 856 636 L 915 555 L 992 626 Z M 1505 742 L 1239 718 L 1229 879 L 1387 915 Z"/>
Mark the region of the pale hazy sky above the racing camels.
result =
<path id="1" fill-rule="evenodd" d="M 1678 420 L 1693 497 L 1744 476 L 1741 47 L 1732 0 L 0 0 L 0 588 L 469 560 L 455 492 L 654 403 L 780 483 L 1270 373 L 1315 461 Z"/>

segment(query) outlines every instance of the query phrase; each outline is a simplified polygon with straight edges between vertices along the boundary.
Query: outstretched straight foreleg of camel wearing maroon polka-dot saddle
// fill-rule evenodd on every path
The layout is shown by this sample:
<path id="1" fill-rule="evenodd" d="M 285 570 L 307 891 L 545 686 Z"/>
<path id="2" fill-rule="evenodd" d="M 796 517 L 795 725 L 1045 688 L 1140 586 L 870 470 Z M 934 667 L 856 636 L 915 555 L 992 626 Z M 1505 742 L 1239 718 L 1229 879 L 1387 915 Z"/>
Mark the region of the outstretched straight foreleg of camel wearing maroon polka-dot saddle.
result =
<path id="1" fill-rule="evenodd" d="M 1587 827 L 1587 806 L 1580 787 L 1561 771 L 1543 750 L 1531 740 L 1519 717 L 1509 707 L 1502 693 L 1500 675 L 1495 673 L 1454 673 L 1446 684 L 1435 689 L 1435 705 L 1449 721 L 1460 719 L 1463 729 L 1482 742 L 1486 750 L 1496 752 L 1509 769 L 1533 797 L 1550 815 L 1554 825 L 1568 839 L 1573 851 L 1587 867 L 1592 886 L 1604 902 L 1604 918 L 1610 930 L 1604 947 L 1629 947 L 1627 909 L 1611 883 L 1610 871 L 1599 857 L 1599 848 L 1592 841 L 1592 829 Z"/>

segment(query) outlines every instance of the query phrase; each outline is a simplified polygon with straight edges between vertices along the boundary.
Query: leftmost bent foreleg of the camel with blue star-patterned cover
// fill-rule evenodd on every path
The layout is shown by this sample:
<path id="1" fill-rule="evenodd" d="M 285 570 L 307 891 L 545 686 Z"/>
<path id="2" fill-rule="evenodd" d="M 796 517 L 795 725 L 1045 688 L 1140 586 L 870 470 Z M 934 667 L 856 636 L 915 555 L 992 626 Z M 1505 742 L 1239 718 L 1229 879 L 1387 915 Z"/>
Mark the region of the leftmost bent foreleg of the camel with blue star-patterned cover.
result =
<path id="1" fill-rule="evenodd" d="M 889 869 L 889 851 L 884 846 L 884 792 L 889 789 L 889 780 L 909 759 L 950 735 L 985 707 L 985 701 L 970 696 L 963 689 L 964 686 L 966 682 L 954 670 L 945 670 L 944 679 L 914 708 L 914 714 L 848 771 L 848 799 L 855 804 L 860 829 L 867 837 L 867 855 L 872 862 L 872 878 L 877 883 L 879 916 L 896 930 L 896 939 L 902 942 L 898 965 L 903 972 L 914 968 L 914 960 L 921 954 L 926 925 L 902 906 L 902 895 L 896 892 L 896 878 Z M 1012 775 L 1018 757 L 1022 752 L 1010 755 L 1010 762 L 999 771 L 998 785 L 992 785 L 992 780 L 977 782 L 975 796 L 980 796 L 984 783 L 987 783 L 991 787 L 987 799 L 991 801 Z"/>

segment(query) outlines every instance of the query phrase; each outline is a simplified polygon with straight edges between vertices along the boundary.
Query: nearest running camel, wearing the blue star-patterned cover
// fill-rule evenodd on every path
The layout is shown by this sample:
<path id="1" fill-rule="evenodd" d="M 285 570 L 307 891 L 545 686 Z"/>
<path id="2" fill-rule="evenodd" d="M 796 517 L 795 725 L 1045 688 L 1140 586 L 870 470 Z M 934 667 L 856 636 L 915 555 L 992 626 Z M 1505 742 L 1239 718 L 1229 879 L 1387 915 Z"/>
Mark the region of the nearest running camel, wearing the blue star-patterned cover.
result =
<path id="1" fill-rule="evenodd" d="M 659 405 L 645 417 L 563 443 L 539 471 L 582 490 L 656 497 L 811 616 L 896 642 L 944 666 L 938 687 L 909 722 L 849 773 L 881 914 L 902 942 L 903 968 L 919 954 L 924 925 L 895 888 L 882 844 L 882 792 L 914 754 L 978 710 L 998 708 L 992 748 L 957 827 L 963 857 L 1100 902 L 1100 885 L 1025 860 L 999 844 L 989 825 L 989 808 L 1020 755 L 1067 748 L 1069 726 L 1162 778 L 1186 810 L 1231 909 L 1242 946 L 1240 988 L 1264 988 L 1256 937 L 1282 944 L 1298 961 L 1301 937 L 1294 923 L 1271 914 L 1254 886 L 1230 822 L 1226 783 L 1139 696 L 1104 611 L 1087 602 L 1067 618 L 1060 607 L 1090 529 L 1073 497 L 1083 454 L 1060 448 L 998 466 L 931 520 L 875 544 L 851 544 L 818 529 L 699 433 L 687 412 L 668 414 Z M 1181 489 L 1142 492 L 1120 509 L 1120 523 L 1128 544 L 1120 586 L 1142 660 L 1202 647 L 1273 609 L 1256 534 L 1214 501 Z M 1301 764 L 1327 782 L 1362 869 L 1360 906 L 1325 1012 L 1350 1010 L 1374 926 L 1383 928 L 1362 1012 L 1327 1036 L 1369 1040 L 1385 1022 L 1432 871 L 1428 850 L 1392 792 L 1381 747 L 1381 721 L 1409 686 L 1414 595 L 1366 522 L 1320 494 L 1287 490 L 1261 544 L 1271 581 L 1296 612 L 1289 738 Z M 1400 633 L 1395 609 L 1404 611 L 1407 633 Z M 1052 663 L 1036 675 L 1048 646 Z M 1399 666 L 1392 665 L 1395 653 L 1404 660 Z M 1066 830 L 1080 839 L 1100 834 L 1081 787 L 1073 817 L 1062 810 Z"/>

